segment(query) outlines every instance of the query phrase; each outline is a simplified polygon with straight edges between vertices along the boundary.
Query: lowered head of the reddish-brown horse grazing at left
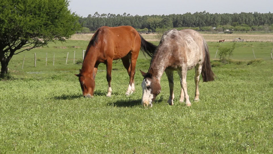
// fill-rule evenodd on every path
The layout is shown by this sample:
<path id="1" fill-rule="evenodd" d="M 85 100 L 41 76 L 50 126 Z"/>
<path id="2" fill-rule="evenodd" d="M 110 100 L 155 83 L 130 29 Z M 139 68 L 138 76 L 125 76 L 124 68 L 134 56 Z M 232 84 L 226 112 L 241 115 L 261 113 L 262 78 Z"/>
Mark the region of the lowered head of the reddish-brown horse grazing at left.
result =
<path id="1" fill-rule="evenodd" d="M 79 83 L 82 90 L 83 97 L 93 98 L 94 97 L 94 89 L 95 89 L 95 80 L 93 76 L 87 75 L 85 73 L 75 74 L 79 77 Z"/>

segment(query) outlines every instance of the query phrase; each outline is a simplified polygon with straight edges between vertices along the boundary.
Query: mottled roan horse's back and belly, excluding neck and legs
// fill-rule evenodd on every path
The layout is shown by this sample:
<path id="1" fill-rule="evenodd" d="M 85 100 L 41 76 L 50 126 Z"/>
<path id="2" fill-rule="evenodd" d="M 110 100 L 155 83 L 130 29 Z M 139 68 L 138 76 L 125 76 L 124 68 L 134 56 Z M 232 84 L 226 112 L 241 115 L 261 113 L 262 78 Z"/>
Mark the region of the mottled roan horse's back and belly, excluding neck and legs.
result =
<path id="1" fill-rule="evenodd" d="M 164 36 L 165 35 L 165 36 Z M 203 37 L 195 30 L 170 30 L 163 34 L 161 42 L 171 53 L 170 63 L 187 69 L 204 62 Z"/>

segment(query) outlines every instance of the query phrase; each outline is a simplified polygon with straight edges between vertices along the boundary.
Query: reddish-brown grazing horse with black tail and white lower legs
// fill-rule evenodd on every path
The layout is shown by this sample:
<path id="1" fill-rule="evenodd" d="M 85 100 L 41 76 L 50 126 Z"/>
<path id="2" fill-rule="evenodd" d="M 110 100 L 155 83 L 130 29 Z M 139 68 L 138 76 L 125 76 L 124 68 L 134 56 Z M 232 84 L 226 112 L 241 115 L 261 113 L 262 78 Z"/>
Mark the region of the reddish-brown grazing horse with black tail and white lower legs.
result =
<path id="1" fill-rule="evenodd" d="M 130 77 L 126 94 L 129 95 L 134 92 L 134 75 L 139 50 L 141 48 L 146 54 L 152 56 L 156 47 L 145 41 L 131 26 L 100 27 L 89 42 L 79 74 L 75 74 L 79 78 L 83 97 L 90 98 L 94 96 L 95 76 L 100 63 L 106 64 L 107 96 L 111 96 L 112 62 L 118 59 L 121 59 Z"/>

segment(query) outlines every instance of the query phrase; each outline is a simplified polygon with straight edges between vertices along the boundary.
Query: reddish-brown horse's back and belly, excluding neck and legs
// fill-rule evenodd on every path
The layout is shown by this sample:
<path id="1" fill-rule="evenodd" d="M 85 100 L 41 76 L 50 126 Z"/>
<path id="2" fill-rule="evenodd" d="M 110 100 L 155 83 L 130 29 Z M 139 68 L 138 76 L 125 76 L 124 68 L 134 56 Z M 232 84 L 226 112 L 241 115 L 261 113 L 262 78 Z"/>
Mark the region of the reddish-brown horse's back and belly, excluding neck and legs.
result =
<path id="1" fill-rule="evenodd" d="M 120 59 L 135 48 L 139 52 L 140 43 L 138 32 L 131 26 L 102 26 L 93 35 L 89 46 L 96 48 L 98 60 L 105 61 L 107 57 Z"/>

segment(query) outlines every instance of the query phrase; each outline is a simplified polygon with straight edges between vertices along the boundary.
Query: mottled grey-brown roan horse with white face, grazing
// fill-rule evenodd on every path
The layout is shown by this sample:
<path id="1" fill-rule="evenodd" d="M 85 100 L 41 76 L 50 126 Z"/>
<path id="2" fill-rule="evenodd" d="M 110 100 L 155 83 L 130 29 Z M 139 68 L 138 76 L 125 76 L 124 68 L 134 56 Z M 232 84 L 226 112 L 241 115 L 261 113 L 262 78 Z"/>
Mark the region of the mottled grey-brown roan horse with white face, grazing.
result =
<path id="1" fill-rule="evenodd" d="M 165 32 L 152 57 L 148 73 L 140 70 L 144 77 L 142 82 L 142 101 L 144 106 L 152 106 L 152 102 L 160 93 L 160 79 L 165 71 L 169 80 L 170 97 L 167 101 L 174 105 L 174 79 L 173 71 L 180 76 L 181 94 L 180 102 L 184 99 L 185 105 L 191 106 L 187 94 L 187 70 L 195 67 L 195 101 L 199 100 L 199 76 L 203 81 L 213 81 L 214 73 L 209 62 L 209 52 L 204 38 L 191 29 L 178 31 L 176 29 Z"/>

